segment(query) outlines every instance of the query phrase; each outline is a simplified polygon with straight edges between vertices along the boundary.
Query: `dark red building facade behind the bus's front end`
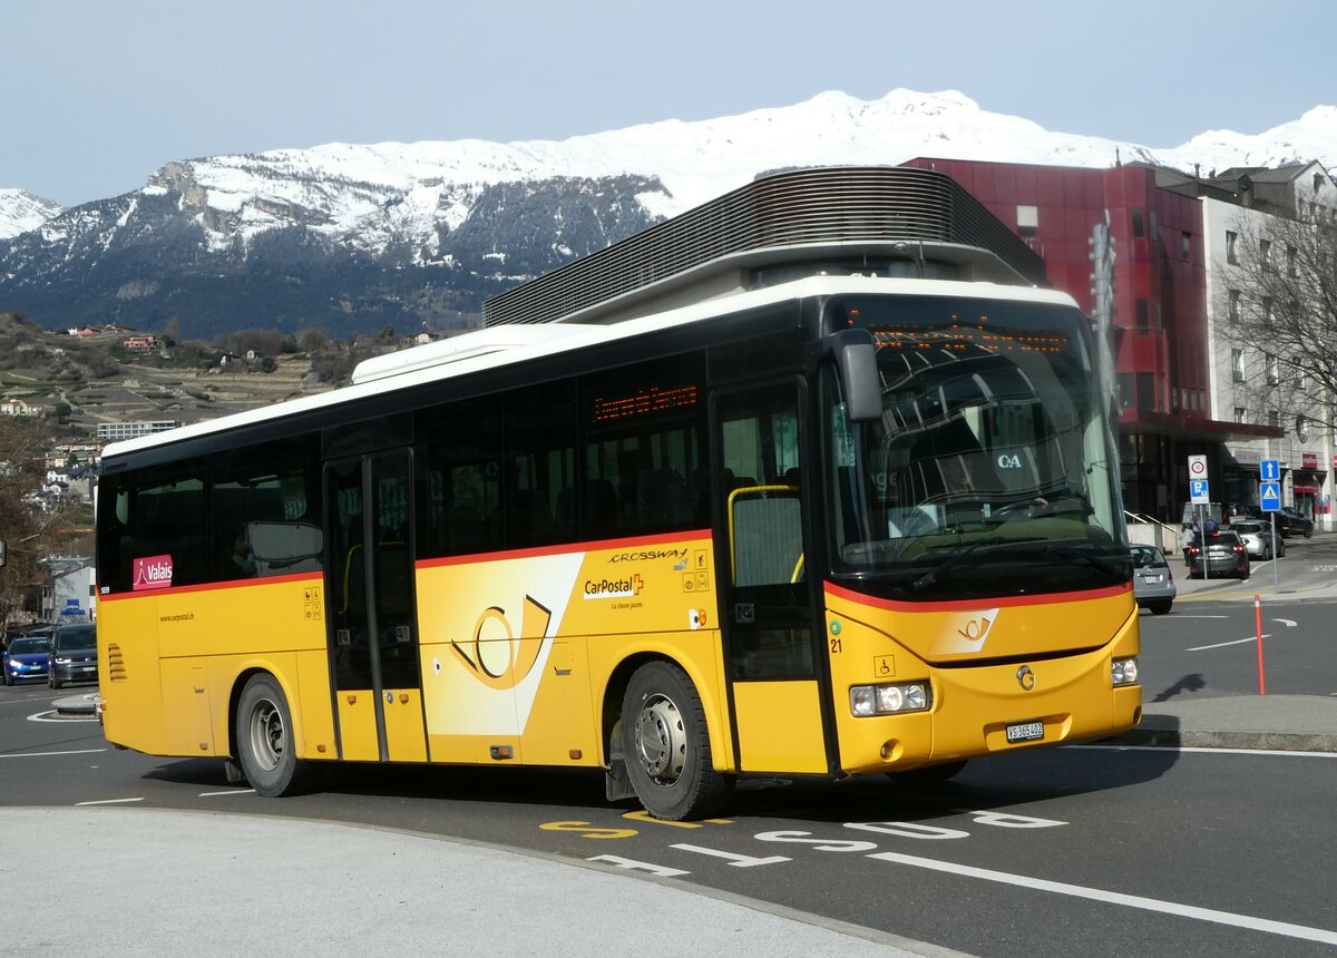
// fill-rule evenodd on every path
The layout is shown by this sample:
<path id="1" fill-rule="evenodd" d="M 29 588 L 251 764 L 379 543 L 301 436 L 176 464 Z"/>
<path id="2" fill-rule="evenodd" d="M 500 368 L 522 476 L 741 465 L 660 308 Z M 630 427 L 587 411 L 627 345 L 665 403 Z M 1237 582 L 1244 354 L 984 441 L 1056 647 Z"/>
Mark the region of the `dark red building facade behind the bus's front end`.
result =
<path id="1" fill-rule="evenodd" d="M 1219 461 L 1227 438 L 1280 430 L 1211 418 L 1202 207 L 1142 164 L 1108 170 L 920 158 L 945 172 L 1044 258 L 1050 283 L 1091 313 L 1092 228 L 1108 211 L 1115 249 L 1115 366 L 1124 508 L 1178 522 L 1187 457 Z"/>

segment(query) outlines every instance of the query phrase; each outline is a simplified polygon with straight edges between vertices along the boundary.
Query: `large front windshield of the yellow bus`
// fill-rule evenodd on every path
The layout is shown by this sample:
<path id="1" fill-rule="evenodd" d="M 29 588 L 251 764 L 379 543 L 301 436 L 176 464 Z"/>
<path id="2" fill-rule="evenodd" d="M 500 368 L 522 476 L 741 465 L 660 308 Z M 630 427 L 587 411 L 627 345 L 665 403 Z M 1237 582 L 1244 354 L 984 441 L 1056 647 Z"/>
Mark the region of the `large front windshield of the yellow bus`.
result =
<path id="1" fill-rule="evenodd" d="M 824 379 L 832 575 L 904 601 L 1104 588 L 1131 575 L 1104 398 L 1072 307 L 837 298 L 866 329 L 882 414 Z"/>

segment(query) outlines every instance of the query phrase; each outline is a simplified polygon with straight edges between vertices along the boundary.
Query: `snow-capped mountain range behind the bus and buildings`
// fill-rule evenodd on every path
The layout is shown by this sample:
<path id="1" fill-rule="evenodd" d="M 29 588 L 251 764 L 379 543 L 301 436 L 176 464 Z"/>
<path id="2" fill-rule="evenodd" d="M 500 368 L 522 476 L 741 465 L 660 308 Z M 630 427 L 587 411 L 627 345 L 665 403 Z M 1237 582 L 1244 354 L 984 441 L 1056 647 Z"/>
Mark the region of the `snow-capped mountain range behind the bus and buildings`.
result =
<path id="1" fill-rule="evenodd" d="M 913 156 L 1086 167 L 1118 156 L 1203 172 L 1332 166 L 1337 108 L 1152 148 L 1050 132 L 951 91 L 873 102 L 833 92 L 562 142 L 332 143 L 176 160 L 123 196 L 32 207 L 40 222 L 23 231 L 7 227 L 12 191 L 0 191 L 0 309 L 48 326 L 115 318 L 158 329 L 178 315 L 187 335 L 468 323 L 487 295 L 767 170 Z"/>

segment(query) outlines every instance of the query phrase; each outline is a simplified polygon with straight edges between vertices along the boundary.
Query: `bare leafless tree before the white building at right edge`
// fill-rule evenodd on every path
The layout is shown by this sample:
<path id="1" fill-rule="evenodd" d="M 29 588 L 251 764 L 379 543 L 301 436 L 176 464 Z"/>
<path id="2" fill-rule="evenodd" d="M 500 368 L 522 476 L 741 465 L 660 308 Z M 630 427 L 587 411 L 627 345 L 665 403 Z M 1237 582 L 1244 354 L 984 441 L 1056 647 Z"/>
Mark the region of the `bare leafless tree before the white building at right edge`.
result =
<path id="1" fill-rule="evenodd" d="M 1255 421 L 1337 422 L 1337 223 L 1242 215 L 1217 269 L 1217 333 L 1249 371 Z"/>

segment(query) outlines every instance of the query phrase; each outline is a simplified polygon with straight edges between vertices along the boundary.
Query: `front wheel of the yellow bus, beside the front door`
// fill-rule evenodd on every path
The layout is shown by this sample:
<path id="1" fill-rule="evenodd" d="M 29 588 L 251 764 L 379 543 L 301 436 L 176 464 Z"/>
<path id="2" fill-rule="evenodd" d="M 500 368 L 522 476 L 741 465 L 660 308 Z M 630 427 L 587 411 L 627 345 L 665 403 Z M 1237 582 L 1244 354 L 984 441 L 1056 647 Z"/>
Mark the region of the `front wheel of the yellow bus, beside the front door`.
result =
<path id="1" fill-rule="evenodd" d="M 667 661 L 638 668 L 620 726 L 627 778 L 646 811 L 681 822 L 725 807 L 734 779 L 714 768 L 706 709 L 686 672 Z"/>

